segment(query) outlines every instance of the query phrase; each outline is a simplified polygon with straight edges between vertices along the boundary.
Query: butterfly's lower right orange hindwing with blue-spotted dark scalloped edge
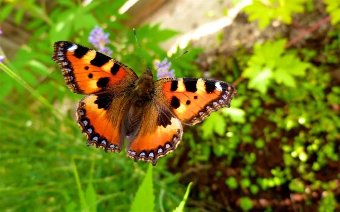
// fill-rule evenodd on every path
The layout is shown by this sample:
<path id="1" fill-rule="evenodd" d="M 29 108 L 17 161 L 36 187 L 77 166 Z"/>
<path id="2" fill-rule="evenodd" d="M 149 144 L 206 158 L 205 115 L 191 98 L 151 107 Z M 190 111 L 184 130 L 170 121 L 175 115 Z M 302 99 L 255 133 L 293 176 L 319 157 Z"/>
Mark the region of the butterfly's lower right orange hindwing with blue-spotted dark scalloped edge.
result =
<path id="1" fill-rule="evenodd" d="M 173 152 L 180 143 L 182 123 L 157 102 L 150 102 L 141 111 L 140 127 L 129 138 L 126 156 L 155 165 L 159 157 Z"/>

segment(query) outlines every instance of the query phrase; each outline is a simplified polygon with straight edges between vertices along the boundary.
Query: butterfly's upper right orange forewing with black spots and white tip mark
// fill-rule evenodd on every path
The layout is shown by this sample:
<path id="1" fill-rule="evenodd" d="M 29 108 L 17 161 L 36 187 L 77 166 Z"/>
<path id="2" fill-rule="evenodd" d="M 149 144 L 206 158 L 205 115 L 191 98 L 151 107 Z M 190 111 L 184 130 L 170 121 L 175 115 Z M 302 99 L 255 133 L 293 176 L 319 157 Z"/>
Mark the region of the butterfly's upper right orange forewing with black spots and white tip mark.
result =
<path id="1" fill-rule="evenodd" d="M 200 123 L 221 107 L 230 107 L 236 89 L 222 81 L 163 78 L 154 83 L 156 97 L 185 124 Z"/>

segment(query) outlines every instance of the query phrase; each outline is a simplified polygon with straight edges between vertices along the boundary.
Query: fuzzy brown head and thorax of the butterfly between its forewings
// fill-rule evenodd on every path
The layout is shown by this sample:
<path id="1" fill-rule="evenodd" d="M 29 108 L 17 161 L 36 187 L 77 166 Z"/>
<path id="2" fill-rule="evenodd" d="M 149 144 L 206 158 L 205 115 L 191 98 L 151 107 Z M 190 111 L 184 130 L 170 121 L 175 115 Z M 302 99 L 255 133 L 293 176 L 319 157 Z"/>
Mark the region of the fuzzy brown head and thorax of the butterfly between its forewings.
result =
<path id="1" fill-rule="evenodd" d="M 143 72 L 134 85 L 132 90 L 135 102 L 138 107 L 144 107 L 153 98 L 153 74 L 151 68 Z"/>

